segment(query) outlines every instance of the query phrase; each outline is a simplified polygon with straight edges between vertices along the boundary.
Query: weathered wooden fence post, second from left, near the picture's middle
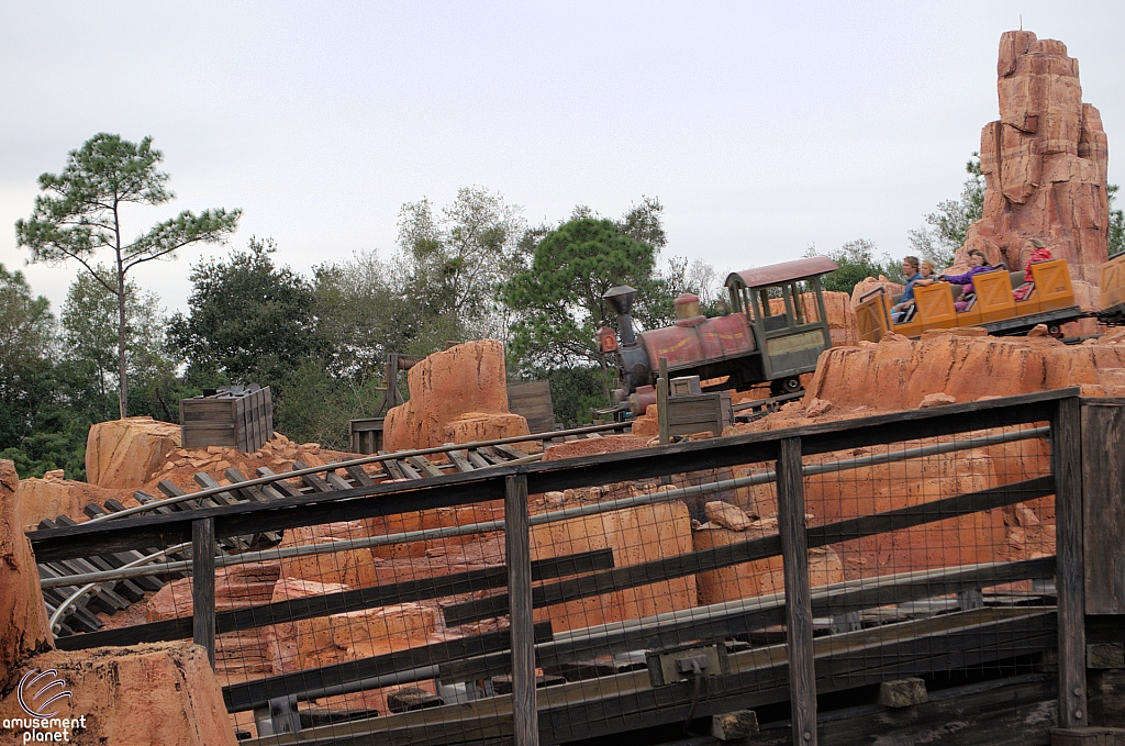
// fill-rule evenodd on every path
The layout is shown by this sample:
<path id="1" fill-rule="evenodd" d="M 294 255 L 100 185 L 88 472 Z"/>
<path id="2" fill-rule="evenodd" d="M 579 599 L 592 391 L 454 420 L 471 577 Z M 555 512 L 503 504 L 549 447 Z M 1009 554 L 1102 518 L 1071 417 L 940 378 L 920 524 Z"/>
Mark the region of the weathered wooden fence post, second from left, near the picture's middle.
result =
<path id="1" fill-rule="evenodd" d="M 531 536 L 528 477 L 504 480 L 504 545 L 512 635 L 512 721 L 515 746 L 539 746 L 536 710 L 536 632 L 531 612 Z"/>

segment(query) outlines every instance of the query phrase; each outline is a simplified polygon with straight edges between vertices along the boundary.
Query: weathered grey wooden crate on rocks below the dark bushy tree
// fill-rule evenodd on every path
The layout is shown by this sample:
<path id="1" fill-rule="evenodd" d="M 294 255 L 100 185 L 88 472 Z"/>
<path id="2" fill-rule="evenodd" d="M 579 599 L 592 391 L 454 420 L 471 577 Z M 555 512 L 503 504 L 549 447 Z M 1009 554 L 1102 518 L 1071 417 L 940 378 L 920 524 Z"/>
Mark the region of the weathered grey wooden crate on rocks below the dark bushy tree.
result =
<path id="1" fill-rule="evenodd" d="M 273 399 L 269 386 L 220 388 L 213 394 L 180 399 L 183 448 L 223 446 L 249 453 L 272 437 Z"/>

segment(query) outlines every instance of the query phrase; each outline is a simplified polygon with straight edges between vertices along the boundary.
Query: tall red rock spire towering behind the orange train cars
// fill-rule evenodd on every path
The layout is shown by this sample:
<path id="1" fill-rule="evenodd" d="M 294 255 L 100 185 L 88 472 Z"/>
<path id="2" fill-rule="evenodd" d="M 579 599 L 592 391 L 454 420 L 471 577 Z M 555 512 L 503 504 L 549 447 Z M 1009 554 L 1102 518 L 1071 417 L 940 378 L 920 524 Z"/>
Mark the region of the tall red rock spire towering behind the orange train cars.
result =
<path id="1" fill-rule="evenodd" d="M 1098 282 L 1107 259 L 1108 147 L 1101 115 L 1082 102 L 1078 60 L 1032 32 L 1000 37 L 1000 119 L 981 133 L 984 215 L 969 228 L 955 263 L 980 249 L 1022 269 L 1027 239 L 1043 240 L 1070 263 L 1071 277 Z"/>

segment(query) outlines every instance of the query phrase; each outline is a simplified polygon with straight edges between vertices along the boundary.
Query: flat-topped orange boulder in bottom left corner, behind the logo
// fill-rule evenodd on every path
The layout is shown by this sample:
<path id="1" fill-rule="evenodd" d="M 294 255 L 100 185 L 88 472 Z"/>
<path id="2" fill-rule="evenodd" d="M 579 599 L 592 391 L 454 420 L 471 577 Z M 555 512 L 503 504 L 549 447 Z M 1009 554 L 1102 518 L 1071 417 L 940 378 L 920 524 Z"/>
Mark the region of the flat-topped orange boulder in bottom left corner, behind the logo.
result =
<path id="1" fill-rule="evenodd" d="M 22 675 L 33 668 L 57 671 L 71 692 L 70 699 L 57 700 L 52 707 L 58 708 L 55 717 L 83 718 L 68 736 L 68 743 L 76 746 L 237 744 L 219 682 L 207 663 L 207 653 L 197 645 L 52 650 L 28 658 L 15 673 Z M 0 716 L 27 717 L 15 687 L 7 689 L 0 700 Z M 0 729 L 0 737 L 3 743 L 28 743 L 24 732 L 22 728 Z"/>

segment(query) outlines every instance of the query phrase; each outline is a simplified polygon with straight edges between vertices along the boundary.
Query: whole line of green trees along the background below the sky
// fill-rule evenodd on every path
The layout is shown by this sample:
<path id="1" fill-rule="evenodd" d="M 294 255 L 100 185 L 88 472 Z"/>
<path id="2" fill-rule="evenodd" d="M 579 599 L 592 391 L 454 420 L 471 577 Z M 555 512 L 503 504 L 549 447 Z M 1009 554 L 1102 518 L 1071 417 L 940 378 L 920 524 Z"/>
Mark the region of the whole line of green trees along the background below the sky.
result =
<path id="1" fill-rule="evenodd" d="M 96 135 L 61 173 L 39 178 L 33 214 L 16 225 L 30 261 L 79 270 L 56 315 L 21 272 L 0 266 L 0 457 L 22 477 L 61 468 L 83 478 L 91 424 L 179 422 L 181 398 L 240 383 L 272 387 L 279 432 L 343 450 L 348 420 L 372 416 L 382 398 L 388 352 L 425 356 L 482 338 L 505 343 L 511 377 L 550 381 L 558 421 L 588 422 L 612 377 L 594 342 L 598 326 L 616 324 L 606 289 L 637 288 L 634 318 L 646 329 L 669 323 L 684 291 L 708 315 L 721 309 L 723 278 L 712 266 L 662 261 L 668 240 L 656 198 L 615 218 L 578 206 L 529 225 L 500 194 L 466 187 L 446 206 L 404 204 L 393 252 L 358 251 L 309 276 L 279 266 L 270 237 L 202 258 L 186 311 L 168 315 L 129 271 L 225 242 L 241 210 L 184 210 L 128 239 L 124 207 L 174 198 L 162 158 L 148 137 Z M 983 185 L 972 167 L 961 200 L 911 234 L 918 253 L 952 255 L 973 210 L 979 217 Z M 876 250 L 857 240 L 830 251 L 840 268 L 826 287 L 849 293 L 868 275 L 896 278 L 898 262 L 874 259 Z"/>

